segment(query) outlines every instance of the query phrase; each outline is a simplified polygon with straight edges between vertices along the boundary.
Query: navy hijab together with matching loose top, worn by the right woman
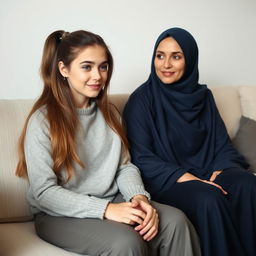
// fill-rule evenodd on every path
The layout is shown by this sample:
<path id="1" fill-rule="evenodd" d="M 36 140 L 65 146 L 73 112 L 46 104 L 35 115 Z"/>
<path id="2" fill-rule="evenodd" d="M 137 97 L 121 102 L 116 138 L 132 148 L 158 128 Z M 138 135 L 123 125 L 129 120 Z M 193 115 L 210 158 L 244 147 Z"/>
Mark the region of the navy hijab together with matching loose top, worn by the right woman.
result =
<path id="1" fill-rule="evenodd" d="M 154 67 L 156 49 L 167 37 L 176 40 L 185 58 L 184 75 L 172 84 L 163 83 Z M 231 145 L 211 91 L 198 79 L 198 47 L 193 36 L 181 28 L 164 31 L 154 47 L 151 74 L 130 96 L 124 111 L 132 161 L 146 184 L 160 176 L 166 178 L 162 184 L 174 183 L 179 170 L 183 170 L 180 175 L 188 171 L 209 178 L 215 170 L 247 167 Z M 157 166 L 161 175 L 154 173 Z"/>

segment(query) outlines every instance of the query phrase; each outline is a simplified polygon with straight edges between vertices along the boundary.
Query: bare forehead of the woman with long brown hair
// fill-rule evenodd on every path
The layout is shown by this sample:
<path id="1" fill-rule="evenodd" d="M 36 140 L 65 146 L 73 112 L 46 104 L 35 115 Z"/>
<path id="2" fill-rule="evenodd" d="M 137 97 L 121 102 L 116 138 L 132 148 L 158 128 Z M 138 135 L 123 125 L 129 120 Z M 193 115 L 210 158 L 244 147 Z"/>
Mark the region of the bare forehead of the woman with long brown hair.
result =
<path id="1" fill-rule="evenodd" d="M 74 59 L 74 62 L 103 62 L 106 60 L 107 54 L 105 48 L 100 45 L 91 45 L 83 48 Z"/>

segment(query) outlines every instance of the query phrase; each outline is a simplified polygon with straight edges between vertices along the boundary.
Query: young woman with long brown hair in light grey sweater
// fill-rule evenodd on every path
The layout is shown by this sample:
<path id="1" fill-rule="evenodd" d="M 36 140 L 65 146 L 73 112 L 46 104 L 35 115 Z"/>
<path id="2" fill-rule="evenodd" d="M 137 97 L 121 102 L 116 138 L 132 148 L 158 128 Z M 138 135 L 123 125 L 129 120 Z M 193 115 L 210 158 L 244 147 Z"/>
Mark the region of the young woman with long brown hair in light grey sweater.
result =
<path id="1" fill-rule="evenodd" d="M 93 33 L 56 31 L 42 57 L 44 89 L 24 126 L 16 174 L 28 176 L 37 234 L 90 255 L 199 255 L 178 209 L 154 202 L 107 89 L 113 60 Z M 160 222 L 159 222 L 160 219 Z"/>

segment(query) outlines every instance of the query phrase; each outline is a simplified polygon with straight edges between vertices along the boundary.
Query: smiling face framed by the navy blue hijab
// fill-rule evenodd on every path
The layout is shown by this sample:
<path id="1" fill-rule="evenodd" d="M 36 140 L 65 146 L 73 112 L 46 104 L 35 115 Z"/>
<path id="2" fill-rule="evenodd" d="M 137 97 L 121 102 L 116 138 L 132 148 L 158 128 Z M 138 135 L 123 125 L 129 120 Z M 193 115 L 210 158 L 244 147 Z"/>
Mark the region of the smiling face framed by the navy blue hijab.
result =
<path id="1" fill-rule="evenodd" d="M 155 53 L 154 66 L 159 79 L 172 84 L 185 72 L 185 58 L 179 44 L 172 37 L 162 40 Z"/>

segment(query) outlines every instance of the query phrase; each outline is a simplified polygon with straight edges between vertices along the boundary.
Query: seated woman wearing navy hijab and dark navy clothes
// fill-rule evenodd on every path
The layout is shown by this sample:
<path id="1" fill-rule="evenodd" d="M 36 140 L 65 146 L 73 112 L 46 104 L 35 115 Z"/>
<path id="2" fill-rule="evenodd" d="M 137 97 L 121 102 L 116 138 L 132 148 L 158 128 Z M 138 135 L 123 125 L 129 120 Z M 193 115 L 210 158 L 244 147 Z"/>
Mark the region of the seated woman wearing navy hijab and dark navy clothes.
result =
<path id="1" fill-rule="evenodd" d="M 180 28 L 156 41 L 149 79 L 124 117 L 132 162 L 152 199 L 185 212 L 204 256 L 256 255 L 256 177 L 232 147 L 206 85 L 198 48 Z"/>

